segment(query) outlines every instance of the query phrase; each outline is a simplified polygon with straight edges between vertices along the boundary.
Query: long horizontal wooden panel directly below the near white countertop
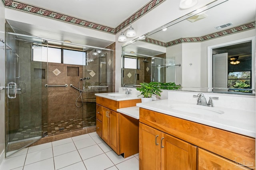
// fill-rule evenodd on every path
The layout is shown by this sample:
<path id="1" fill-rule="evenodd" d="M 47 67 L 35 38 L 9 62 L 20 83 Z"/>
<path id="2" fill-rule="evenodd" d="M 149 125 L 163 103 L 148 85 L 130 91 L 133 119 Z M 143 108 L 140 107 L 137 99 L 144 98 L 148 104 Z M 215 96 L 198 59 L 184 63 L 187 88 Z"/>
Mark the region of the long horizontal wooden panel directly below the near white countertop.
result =
<path id="1" fill-rule="evenodd" d="M 140 122 L 229 160 L 239 156 L 255 164 L 255 139 L 140 108 Z"/>

